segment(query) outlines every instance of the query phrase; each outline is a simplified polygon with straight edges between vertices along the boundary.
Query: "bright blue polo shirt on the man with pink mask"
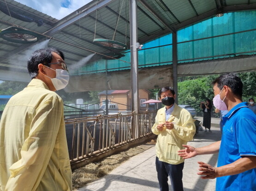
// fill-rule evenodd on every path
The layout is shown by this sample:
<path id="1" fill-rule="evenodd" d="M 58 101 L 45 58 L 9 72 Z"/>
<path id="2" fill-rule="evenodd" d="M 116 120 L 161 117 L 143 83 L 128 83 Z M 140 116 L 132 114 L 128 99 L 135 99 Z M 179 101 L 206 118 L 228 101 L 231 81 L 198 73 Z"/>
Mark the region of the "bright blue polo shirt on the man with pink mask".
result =
<path id="1" fill-rule="evenodd" d="M 223 117 L 223 133 L 218 167 L 241 157 L 256 157 L 256 115 L 239 103 Z M 216 191 L 252 191 L 256 188 L 256 169 L 217 178 Z"/>

